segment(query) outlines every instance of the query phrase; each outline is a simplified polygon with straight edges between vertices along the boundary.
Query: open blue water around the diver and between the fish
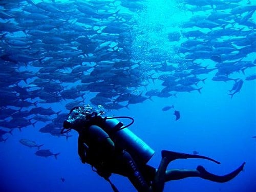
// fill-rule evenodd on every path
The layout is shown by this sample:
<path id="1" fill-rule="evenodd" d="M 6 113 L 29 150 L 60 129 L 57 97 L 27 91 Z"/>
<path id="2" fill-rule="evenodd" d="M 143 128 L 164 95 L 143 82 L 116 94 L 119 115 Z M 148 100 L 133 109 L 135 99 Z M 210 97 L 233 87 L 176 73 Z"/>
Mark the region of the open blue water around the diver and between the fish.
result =
<path id="1" fill-rule="evenodd" d="M 251 2 L 255 4 L 254 1 Z M 148 7 L 147 11 L 139 12 L 139 16 L 147 15 L 147 17 L 143 17 L 145 19 L 136 17 L 139 27 L 146 26 L 144 30 L 147 35 L 134 34 L 132 54 L 138 60 L 144 59 L 146 64 L 150 61 L 141 53 L 148 50 L 145 47 L 144 50 L 140 50 L 138 46 L 144 45 L 147 40 L 150 46 L 156 44 L 158 53 L 163 56 L 174 53 L 174 50 L 167 49 L 172 45 L 161 44 L 163 40 L 160 32 L 149 31 L 153 25 L 162 23 L 166 27 L 168 24 L 169 21 L 166 20 L 165 15 L 152 13 L 154 6 L 157 13 L 167 12 L 173 8 L 165 7 L 166 5 L 170 6 L 166 1 L 162 4 L 155 1 L 148 2 L 145 4 Z M 191 12 L 181 10 L 179 17 L 178 9 L 174 11 L 176 11 L 174 12 L 176 16 L 172 15 L 173 17 L 169 18 L 173 19 L 170 25 L 172 28 L 177 23 L 186 22 L 187 18 L 184 15 L 191 16 Z M 179 26 L 177 25 L 176 28 L 179 29 Z M 253 62 L 254 59 L 255 52 L 252 52 L 244 60 Z M 214 62 L 210 60 L 201 60 L 201 62 L 202 66 L 214 65 Z M 34 68 L 31 67 L 31 70 Z M 231 75 L 232 78 L 244 80 L 241 91 L 232 99 L 228 95 L 228 90 L 232 88 L 233 82 L 212 81 L 212 77 L 216 74 L 216 71 L 212 71 L 200 75 L 200 78 L 207 78 L 205 83 L 198 83 L 198 87 L 203 87 L 201 94 L 193 91 L 179 92 L 177 98 L 152 97 L 151 100 L 147 99 L 142 103 L 130 104 L 129 109 L 112 110 L 108 112 L 108 115 L 131 116 L 135 119 L 129 129 L 155 150 L 155 155 L 148 162 L 154 167 L 158 167 L 163 149 L 190 154 L 198 151 L 200 155 L 221 162 L 218 165 L 206 160 L 177 160 L 170 163 L 169 168 L 194 169 L 198 165 L 203 165 L 211 173 L 225 175 L 246 162 L 244 171 L 229 182 L 215 183 L 200 178 L 186 178 L 166 183 L 164 191 L 253 192 L 256 191 L 256 139 L 252 138 L 256 135 L 256 80 L 246 81 L 245 78 L 255 73 L 254 67 L 245 69 L 244 74 L 237 72 Z M 147 89 L 142 89 L 143 93 L 151 89 L 162 89 L 159 82 L 153 83 L 152 80 L 149 82 Z M 21 83 L 24 84 L 24 82 Z M 73 86 L 78 84 L 79 82 L 75 82 Z M 85 103 L 90 103 L 90 96 L 89 94 L 86 97 Z M 69 111 L 65 109 L 66 102 L 62 100 L 44 106 L 51 106 L 56 112 L 68 113 Z M 175 110 L 181 113 L 178 121 L 175 121 L 174 109 L 161 110 L 164 106 L 172 104 Z M 52 118 L 56 116 L 55 114 Z M 77 154 L 78 134 L 75 131 L 72 131 L 72 137 L 66 140 L 65 137 L 53 137 L 50 134 L 40 133 L 39 129 L 45 125 L 46 123 L 36 122 L 34 127 L 30 125 L 22 131 L 14 129 L 13 135 L 5 135 L 5 137 L 8 136 L 7 141 L 0 143 L 0 191 L 112 191 L 108 182 L 92 172 L 90 165 L 80 162 Z M 29 148 L 19 143 L 19 140 L 24 138 L 44 144 L 42 149 L 50 149 L 54 154 L 60 153 L 60 155 L 57 160 L 53 156 L 47 158 L 36 156 L 34 154 L 36 148 Z M 61 181 L 61 178 L 65 181 Z M 126 178 L 113 174 L 111 180 L 119 191 L 135 191 Z"/>

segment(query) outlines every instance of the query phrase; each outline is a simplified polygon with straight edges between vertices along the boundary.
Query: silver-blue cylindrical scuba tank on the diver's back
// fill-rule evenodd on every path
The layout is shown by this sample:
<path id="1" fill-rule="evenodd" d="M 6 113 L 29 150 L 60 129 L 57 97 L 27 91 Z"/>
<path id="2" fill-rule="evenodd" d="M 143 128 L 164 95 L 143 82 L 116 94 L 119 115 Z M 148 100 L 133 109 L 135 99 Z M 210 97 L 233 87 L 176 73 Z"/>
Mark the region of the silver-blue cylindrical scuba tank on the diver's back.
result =
<path id="1" fill-rule="evenodd" d="M 129 129 L 118 129 L 123 125 L 117 119 L 106 119 L 104 128 L 116 145 L 124 148 L 134 159 L 147 163 L 155 151 Z"/>

